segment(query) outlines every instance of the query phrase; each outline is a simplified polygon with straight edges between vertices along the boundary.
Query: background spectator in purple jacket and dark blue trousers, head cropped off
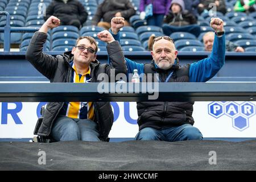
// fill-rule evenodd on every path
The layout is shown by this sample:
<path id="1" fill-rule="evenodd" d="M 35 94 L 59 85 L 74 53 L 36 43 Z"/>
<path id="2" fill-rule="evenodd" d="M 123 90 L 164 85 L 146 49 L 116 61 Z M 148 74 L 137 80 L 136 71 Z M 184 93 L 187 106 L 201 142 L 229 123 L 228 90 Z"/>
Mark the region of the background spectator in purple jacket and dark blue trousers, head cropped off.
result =
<path id="1" fill-rule="evenodd" d="M 145 19 L 145 7 L 150 3 L 152 3 L 153 5 L 153 15 L 147 18 L 147 25 L 162 27 L 164 15 L 168 14 L 171 0 L 141 0 L 139 4 L 139 11 L 141 11 L 141 19 Z"/>

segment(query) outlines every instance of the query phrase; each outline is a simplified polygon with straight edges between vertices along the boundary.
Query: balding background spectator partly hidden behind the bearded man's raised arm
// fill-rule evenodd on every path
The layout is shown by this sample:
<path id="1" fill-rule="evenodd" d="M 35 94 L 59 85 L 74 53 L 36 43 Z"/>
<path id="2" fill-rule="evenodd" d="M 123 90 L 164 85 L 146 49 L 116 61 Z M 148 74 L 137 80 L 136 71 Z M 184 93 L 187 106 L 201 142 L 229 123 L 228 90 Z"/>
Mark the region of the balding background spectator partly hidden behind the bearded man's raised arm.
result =
<path id="1" fill-rule="evenodd" d="M 212 51 L 214 32 L 207 32 L 203 36 L 205 51 Z M 245 52 L 245 49 L 230 41 L 226 41 L 226 51 Z"/>

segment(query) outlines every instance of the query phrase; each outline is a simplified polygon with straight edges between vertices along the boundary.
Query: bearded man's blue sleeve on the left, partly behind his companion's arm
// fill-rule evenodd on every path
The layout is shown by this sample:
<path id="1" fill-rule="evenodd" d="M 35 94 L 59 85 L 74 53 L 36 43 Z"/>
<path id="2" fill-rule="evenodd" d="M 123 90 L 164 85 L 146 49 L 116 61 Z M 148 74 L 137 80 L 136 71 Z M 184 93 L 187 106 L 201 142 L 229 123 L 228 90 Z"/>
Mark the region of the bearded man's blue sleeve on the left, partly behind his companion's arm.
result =
<path id="1" fill-rule="evenodd" d="M 112 34 L 113 38 L 120 42 L 120 34 L 119 32 L 117 34 L 113 34 L 112 31 L 110 30 L 110 33 Z M 138 74 L 141 75 L 141 73 L 144 73 L 144 65 L 141 63 L 136 63 L 135 61 L 132 61 L 128 58 L 125 57 L 126 60 L 126 65 L 127 65 L 127 74 L 133 73 L 134 69 L 138 69 Z M 109 59 L 109 64 L 110 64 L 110 59 Z"/>

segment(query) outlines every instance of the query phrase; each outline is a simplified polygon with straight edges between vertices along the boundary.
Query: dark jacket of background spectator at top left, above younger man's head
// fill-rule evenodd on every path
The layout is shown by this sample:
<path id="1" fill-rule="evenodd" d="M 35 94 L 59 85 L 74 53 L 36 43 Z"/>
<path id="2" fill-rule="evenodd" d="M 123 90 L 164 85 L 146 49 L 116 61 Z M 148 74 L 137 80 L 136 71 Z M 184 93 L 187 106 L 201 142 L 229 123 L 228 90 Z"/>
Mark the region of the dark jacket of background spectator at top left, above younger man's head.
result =
<path id="1" fill-rule="evenodd" d="M 82 24 L 86 21 L 88 13 L 78 0 L 68 0 L 67 3 L 62 0 L 53 0 L 47 6 L 44 20 L 47 20 L 51 15 L 59 18 L 64 24 L 69 24 L 74 19 L 79 19 Z"/>

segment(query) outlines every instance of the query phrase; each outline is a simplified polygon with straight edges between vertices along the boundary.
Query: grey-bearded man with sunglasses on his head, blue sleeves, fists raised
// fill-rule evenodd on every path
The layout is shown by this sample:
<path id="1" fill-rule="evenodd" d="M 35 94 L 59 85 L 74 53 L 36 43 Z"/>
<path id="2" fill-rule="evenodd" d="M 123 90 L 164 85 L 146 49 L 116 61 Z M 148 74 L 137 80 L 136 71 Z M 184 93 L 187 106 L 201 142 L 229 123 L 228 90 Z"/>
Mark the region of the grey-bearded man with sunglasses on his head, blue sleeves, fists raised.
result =
<path id="1" fill-rule="evenodd" d="M 122 22 L 121 22 L 122 23 Z M 223 21 L 212 18 L 210 26 L 215 30 L 212 53 L 208 58 L 192 64 L 180 65 L 174 41 L 168 36 L 156 37 L 152 43 L 151 64 L 139 64 L 126 59 L 127 73 L 158 73 L 159 82 L 205 82 L 224 65 L 225 32 Z M 115 40 L 119 40 L 119 28 L 112 27 Z M 154 75 L 153 75 L 154 76 Z M 144 80 L 144 79 L 143 79 Z M 155 81 L 153 79 L 152 81 Z M 201 140 L 203 135 L 193 127 L 193 102 L 137 102 L 139 133 L 136 140 Z"/>

